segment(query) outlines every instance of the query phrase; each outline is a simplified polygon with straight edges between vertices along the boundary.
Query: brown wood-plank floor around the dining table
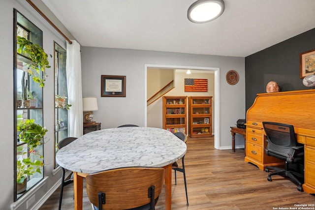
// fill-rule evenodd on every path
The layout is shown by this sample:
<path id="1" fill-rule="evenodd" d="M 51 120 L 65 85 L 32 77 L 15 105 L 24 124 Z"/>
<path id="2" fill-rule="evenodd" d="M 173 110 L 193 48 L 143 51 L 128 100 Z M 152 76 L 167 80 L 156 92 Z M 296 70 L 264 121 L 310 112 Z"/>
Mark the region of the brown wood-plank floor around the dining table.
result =
<path id="1" fill-rule="evenodd" d="M 274 210 L 295 204 L 315 204 L 315 196 L 299 192 L 296 185 L 280 176 L 267 181 L 267 173 L 244 162 L 244 149 L 215 150 L 213 138 L 189 138 L 185 156 L 189 207 L 186 206 L 183 174 L 172 184 L 173 210 Z M 180 165 L 181 161 L 178 161 Z M 59 191 L 40 210 L 58 210 Z M 91 210 L 86 191 L 83 209 Z M 157 210 L 164 210 L 162 191 Z M 64 187 L 62 210 L 73 210 L 73 184 Z"/>

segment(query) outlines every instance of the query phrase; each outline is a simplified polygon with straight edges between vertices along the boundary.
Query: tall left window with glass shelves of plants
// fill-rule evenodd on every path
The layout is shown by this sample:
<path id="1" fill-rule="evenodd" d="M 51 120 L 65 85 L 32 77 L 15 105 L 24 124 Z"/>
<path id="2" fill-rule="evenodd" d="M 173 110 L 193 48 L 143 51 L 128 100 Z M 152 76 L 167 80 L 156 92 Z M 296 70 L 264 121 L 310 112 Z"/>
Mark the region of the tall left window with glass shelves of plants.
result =
<path id="1" fill-rule="evenodd" d="M 39 145 L 33 146 L 20 138 L 21 123 L 35 123 L 43 126 L 43 90 L 28 72 L 27 64 L 31 63 L 29 54 L 20 52 L 17 37 L 23 37 L 42 47 L 43 33 L 26 17 L 14 9 L 15 47 L 13 63 L 14 84 L 14 201 L 31 189 L 44 177 L 43 171 L 43 138 Z M 40 76 L 42 76 L 40 74 Z M 23 130 L 23 129 L 22 129 Z M 18 182 L 23 182 L 18 183 Z"/>

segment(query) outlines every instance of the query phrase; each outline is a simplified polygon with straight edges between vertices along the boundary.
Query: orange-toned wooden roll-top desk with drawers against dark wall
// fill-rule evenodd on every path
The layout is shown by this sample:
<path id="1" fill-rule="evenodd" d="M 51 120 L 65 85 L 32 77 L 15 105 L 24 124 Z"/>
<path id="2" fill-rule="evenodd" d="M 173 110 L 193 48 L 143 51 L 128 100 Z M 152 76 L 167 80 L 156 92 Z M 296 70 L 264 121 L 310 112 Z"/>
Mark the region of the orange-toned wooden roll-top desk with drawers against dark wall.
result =
<path id="1" fill-rule="evenodd" d="M 315 193 L 315 90 L 259 93 L 246 114 L 246 156 L 259 169 L 283 165 L 280 159 L 268 156 L 263 121 L 292 124 L 297 142 L 304 144 L 303 190 Z"/>

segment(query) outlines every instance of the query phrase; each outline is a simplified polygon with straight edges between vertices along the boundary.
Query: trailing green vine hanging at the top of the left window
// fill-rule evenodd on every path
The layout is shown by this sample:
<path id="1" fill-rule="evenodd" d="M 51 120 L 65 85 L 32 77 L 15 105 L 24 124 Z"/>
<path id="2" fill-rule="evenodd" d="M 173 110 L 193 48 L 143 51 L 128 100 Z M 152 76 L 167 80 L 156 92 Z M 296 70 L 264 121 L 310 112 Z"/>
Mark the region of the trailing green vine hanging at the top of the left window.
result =
<path id="1" fill-rule="evenodd" d="M 33 44 L 30 40 L 18 36 L 17 37 L 18 53 L 26 54 L 32 62 L 26 64 L 27 71 L 32 75 L 33 81 L 40 84 L 40 87 L 45 86 L 45 80 L 47 78 L 45 69 L 50 68 L 48 55 L 44 49 L 38 44 Z M 41 76 L 40 72 L 43 73 Z"/>

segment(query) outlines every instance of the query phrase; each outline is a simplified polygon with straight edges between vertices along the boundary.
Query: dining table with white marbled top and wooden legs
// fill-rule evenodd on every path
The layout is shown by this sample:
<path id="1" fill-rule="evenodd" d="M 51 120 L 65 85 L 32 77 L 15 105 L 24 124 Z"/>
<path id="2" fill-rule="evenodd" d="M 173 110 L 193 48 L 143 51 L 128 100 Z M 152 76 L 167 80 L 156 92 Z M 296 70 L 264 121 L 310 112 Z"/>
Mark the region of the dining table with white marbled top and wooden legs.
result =
<path id="1" fill-rule="evenodd" d="M 165 209 L 171 210 L 172 163 L 186 153 L 186 144 L 171 132 L 154 127 L 108 128 L 87 133 L 56 154 L 56 162 L 73 171 L 74 207 L 82 209 L 83 178 L 120 167 L 163 167 Z"/>

